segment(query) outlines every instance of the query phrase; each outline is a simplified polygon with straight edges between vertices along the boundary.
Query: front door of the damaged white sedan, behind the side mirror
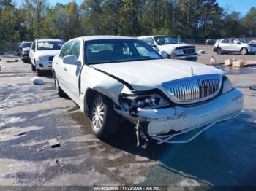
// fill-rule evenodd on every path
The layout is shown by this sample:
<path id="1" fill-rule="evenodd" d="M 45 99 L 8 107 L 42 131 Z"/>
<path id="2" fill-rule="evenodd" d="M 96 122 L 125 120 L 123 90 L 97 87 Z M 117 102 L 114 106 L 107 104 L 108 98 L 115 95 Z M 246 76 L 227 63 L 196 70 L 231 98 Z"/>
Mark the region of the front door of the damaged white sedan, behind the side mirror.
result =
<path id="1" fill-rule="evenodd" d="M 78 79 L 80 74 L 80 69 L 82 66 L 82 59 L 80 57 L 81 50 L 81 41 L 75 40 L 75 42 L 72 44 L 72 48 L 69 52 L 69 55 L 75 55 L 75 58 L 77 59 L 77 62 L 74 64 L 65 64 L 64 67 L 66 68 L 65 73 L 67 78 L 65 83 L 69 88 L 70 97 L 73 101 L 75 101 L 77 104 L 79 103 L 79 87 L 78 87 Z"/>

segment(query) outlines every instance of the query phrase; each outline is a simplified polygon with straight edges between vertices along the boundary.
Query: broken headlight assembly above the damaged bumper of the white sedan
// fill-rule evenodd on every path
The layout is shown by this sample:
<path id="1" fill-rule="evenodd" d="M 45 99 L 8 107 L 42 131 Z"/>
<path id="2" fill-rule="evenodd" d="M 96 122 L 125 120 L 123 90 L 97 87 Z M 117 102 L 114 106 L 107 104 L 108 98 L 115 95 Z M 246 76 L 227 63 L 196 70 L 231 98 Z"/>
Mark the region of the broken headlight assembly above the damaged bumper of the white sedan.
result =
<path id="1" fill-rule="evenodd" d="M 159 109 L 165 106 L 170 106 L 167 98 L 157 93 L 135 93 L 121 94 L 119 98 L 121 109 L 129 111 L 134 117 L 138 116 L 138 108 L 142 109 Z"/>

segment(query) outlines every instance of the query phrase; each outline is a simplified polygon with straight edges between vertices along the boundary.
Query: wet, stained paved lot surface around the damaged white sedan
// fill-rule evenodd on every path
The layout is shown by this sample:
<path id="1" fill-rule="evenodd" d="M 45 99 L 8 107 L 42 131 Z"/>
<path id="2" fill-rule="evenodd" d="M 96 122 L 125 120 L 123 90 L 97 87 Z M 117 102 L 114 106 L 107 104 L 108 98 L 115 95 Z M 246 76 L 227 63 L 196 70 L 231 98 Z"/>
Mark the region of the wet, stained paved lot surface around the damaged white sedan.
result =
<path id="1" fill-rule="evenodd" d="M 210 46 L 198 62 L 209 63 Z M 244 58 L 256 60 L 255 55 Z M 239 117 L 219 122 L 189 144 L 135 147 L 134 127 L 123 123 L 100 141 L 71 100 L 56 95 L 53 79 L 32 85 L 30 65 L 0 55 L 0 185 L 256 185 L 256 66 L 225 69 L 244 93 Z M 58 139 L 51 148 L 48 140 Z"/>

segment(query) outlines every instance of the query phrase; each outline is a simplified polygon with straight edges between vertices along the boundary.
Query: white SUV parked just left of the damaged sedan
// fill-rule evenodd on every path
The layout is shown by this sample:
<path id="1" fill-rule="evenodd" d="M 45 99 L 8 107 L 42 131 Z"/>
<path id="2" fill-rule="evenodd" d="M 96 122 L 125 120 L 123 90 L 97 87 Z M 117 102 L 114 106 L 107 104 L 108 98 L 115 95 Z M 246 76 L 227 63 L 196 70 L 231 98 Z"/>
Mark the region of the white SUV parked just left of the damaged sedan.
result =
<path id="1" fill-rule="evenodd" d="M 53 57 L 59 54 L 64 41 L 62 39 L 36 39 L 29 52 L 31 70 L 41 76 L 43 71 L 52 69 Z"/>

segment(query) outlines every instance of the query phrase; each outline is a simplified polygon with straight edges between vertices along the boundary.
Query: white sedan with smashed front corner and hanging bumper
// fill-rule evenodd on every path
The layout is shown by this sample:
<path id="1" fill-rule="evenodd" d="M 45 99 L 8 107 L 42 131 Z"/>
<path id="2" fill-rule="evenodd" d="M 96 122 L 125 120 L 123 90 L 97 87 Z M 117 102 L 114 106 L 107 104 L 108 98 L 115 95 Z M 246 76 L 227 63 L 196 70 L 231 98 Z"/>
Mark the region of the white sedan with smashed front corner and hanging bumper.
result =
<path id="1" fill-rule="evenodd" d="M 164 59 L 124 36 L 69 40 L 53 58 L 53 77 L 57 93 L 80 106 L 99 138 L 116 131 L 120 116 L 155 139 L 227 120 L 243 107 L 224 71 Z"/>

